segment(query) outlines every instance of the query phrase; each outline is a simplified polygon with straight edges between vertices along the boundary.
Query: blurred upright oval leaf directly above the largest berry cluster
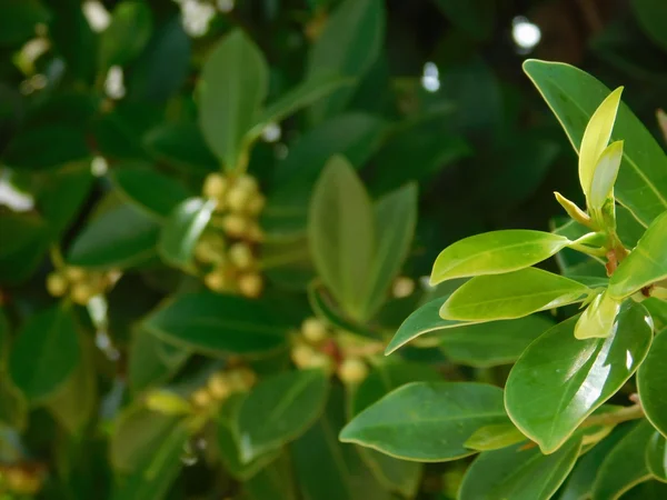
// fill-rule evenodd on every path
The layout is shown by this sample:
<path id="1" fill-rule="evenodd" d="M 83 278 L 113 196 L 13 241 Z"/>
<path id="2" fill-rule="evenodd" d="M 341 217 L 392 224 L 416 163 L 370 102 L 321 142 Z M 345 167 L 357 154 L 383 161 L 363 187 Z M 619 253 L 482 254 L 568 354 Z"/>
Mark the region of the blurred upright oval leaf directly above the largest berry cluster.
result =
<path id="1" fill-rule="evenodd" d="M 262 53 L 241 30 L 232 31 L 209 54 L 197 87 L 199 126 L 226 169 L 247 154 L 243 138 L 259 119 L 267 90 Z"/>

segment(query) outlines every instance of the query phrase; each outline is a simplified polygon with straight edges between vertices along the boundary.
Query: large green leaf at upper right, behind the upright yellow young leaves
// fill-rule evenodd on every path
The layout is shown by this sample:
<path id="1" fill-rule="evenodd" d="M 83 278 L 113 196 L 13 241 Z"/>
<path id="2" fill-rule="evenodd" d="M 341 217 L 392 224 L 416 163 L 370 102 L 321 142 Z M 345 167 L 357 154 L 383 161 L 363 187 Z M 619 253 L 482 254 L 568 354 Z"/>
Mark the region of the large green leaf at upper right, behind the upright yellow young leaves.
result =
<path id="1" fill-rule="evenodd" d="M 586 72 L 559 62 L 528 60 L 524 70 L 578 150 L 590 117 L 609 90 Z M 641 223 L 648 226 L 667 209 L 667 177 L 664 176 L 667 157 L 624 103 L 618 109 L 611 140 L 625 141 L 615 196 Z"/>

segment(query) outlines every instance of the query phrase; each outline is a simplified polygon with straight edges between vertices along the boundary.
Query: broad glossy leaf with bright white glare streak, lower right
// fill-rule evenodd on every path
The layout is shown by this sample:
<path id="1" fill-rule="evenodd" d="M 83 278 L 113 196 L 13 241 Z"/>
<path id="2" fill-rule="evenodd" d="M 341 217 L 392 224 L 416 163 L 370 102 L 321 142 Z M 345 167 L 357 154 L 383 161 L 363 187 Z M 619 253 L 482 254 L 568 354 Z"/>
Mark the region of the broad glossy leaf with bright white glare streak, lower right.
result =
<path id="1" fill-rule="evenodd" d="M 570 318 L 532 342 L 507 380 L 505 404 L 510 419 L 545 453 L 556 451 L 623 387 L 651 342 L 649 317 L 637 303 L 624 304 L 606 339 L 576 339 L 576 321 Z"/>

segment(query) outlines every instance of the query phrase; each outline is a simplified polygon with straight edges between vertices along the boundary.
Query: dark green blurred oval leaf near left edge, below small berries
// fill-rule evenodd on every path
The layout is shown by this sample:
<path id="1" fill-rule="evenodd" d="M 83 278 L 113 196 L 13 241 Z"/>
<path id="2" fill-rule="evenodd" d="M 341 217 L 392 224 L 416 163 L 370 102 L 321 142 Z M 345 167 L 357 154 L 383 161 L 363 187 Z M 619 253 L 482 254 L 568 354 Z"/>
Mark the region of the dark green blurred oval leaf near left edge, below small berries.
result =
<path id="1" fill-rule="evenodd" d="M 72 311 L 53 307 L 24 323 L 9 356 L 9 373 L 28 401 L 38 403 L 67 382 L 80 360 Z"/>

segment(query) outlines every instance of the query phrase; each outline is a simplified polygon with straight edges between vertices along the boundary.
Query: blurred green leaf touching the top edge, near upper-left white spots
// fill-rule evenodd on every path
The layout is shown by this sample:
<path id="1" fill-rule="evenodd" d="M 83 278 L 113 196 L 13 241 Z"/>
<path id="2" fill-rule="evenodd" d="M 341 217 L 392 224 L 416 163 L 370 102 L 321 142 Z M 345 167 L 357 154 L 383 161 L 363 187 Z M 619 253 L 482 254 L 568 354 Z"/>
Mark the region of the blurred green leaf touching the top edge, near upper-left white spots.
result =
<path id="1" fill-rule="evenodd" d="M 139 1 L 117 3 L 100 38 L 100 71 L 126 66 L 141 53 L 152 32 L 150 8 Z"/>

